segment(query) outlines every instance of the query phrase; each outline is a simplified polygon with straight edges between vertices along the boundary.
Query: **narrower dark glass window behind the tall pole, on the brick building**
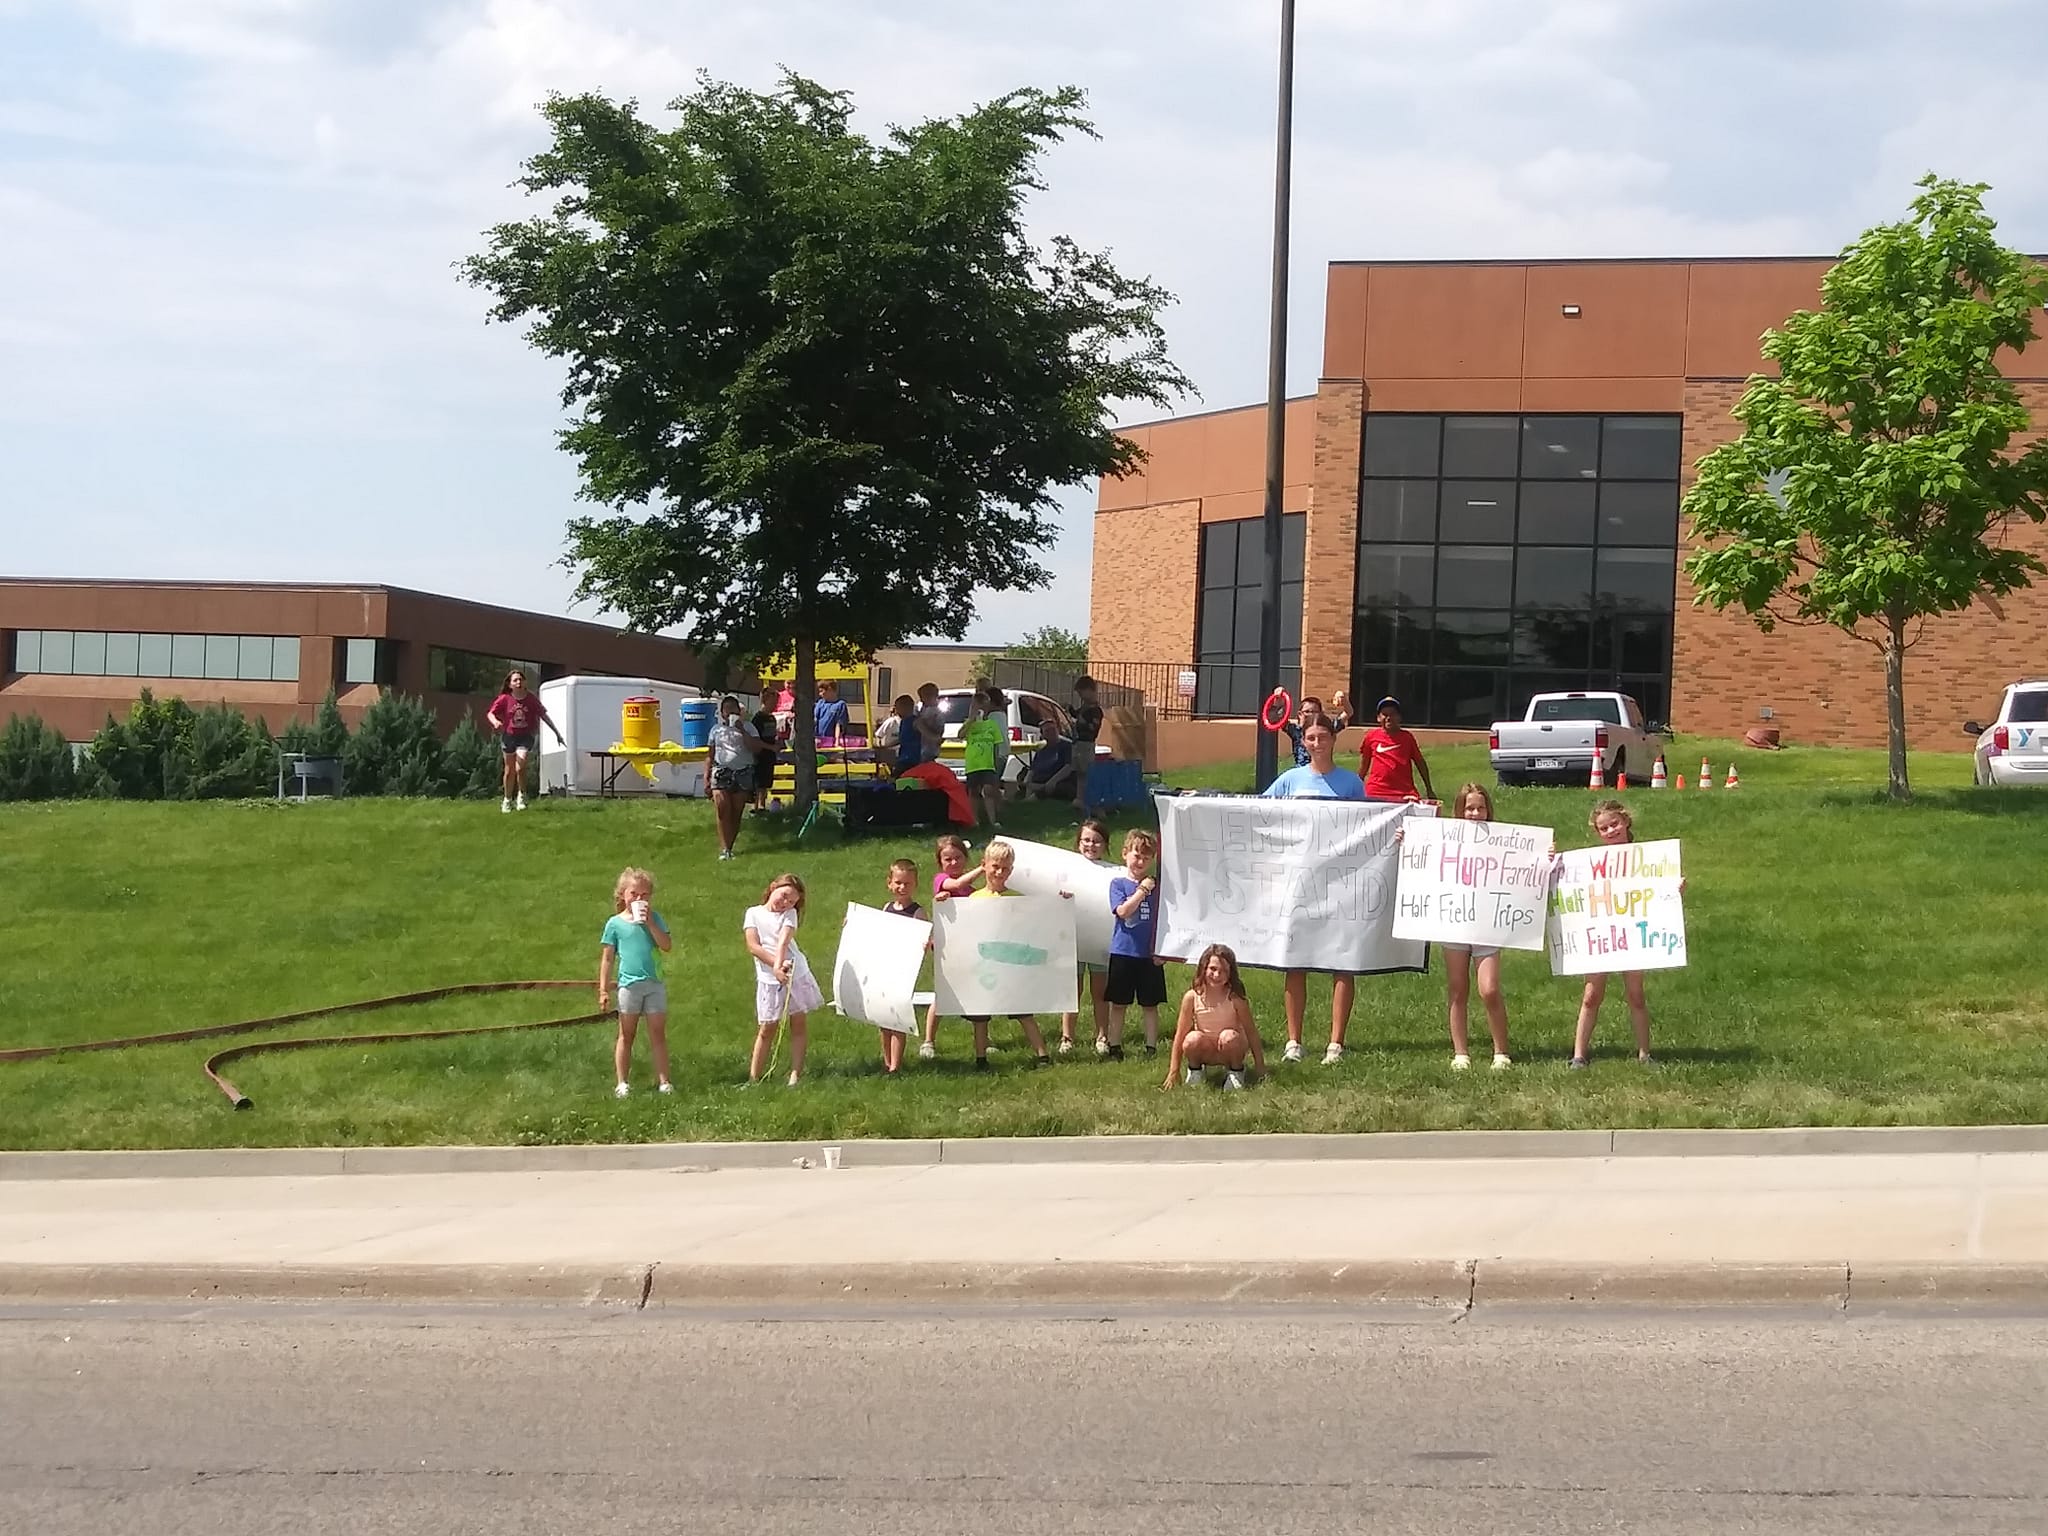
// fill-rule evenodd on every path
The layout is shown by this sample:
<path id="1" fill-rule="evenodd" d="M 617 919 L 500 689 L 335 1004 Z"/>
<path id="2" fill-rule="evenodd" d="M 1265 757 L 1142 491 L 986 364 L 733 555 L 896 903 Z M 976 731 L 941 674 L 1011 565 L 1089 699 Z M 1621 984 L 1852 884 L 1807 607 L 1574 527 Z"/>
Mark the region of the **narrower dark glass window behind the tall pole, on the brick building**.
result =
<path id="1" fill-rule="evenodd" d="M 1300 604 L 1307 516 L 1280 520 L 1280 686 L 1300 692 Z M 1266 582 L 1266 520 L 1202 524 L 1202 588 L 1194 610 L 1194 713 L 1260 711 L 1260 621 Z"/>

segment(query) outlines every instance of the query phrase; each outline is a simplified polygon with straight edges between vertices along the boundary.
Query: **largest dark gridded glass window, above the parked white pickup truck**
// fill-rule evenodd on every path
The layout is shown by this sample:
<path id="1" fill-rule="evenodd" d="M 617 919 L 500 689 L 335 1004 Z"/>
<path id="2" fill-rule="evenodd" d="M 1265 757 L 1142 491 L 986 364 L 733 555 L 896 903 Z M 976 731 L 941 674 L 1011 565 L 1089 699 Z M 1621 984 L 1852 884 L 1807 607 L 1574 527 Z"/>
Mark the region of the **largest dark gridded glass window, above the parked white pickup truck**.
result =
<path id="1" fill-rule="evenodd" d="M 1587 690 L 1661 719 L 1679 467 L 1677 416 L 1368 416 L 1352 694 L 1415 725 Z"/>

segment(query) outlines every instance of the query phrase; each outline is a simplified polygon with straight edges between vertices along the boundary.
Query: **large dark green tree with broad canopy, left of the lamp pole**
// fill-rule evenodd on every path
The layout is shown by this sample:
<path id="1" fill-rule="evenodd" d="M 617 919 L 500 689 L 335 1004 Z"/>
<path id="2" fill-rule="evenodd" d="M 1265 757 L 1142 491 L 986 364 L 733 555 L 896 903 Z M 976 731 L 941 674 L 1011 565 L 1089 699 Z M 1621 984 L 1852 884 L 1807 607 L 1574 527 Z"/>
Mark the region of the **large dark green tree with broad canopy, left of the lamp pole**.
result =
<path id="1" fill-rule="evenodd" d="M 705 78 L 672 113 L 551 98 L 518 182 L 549 209 L 465 274 L 567 362 L 561 442 L 608 508 L 569 524 L 578 594 L 791 655 L 809 698 L 821 653 L 961 639 L 977 588 L 1049 580 L 1053 489 L 1141 457 L 1112 403 L 1186 389 L 1169 297 L 1026 231 L 1044 150 L 1092 131 L 1075 90 L 879 141 L 797 76 Z M 799 709 L 805 803 L 813 748 Z"/>

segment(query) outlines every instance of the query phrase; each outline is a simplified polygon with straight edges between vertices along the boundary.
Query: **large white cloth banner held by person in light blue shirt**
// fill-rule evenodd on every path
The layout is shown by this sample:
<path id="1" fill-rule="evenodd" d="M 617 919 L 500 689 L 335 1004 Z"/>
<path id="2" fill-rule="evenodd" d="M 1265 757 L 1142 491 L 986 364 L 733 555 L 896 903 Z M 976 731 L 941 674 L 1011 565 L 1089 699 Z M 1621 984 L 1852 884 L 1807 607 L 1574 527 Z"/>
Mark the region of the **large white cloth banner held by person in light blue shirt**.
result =
<path id="1" fill-rule="evenodd" d="M 1421 971 L 1393 936 L 1395 827 L 1427 807 L 1174 795 L 1159 807 L 1159 940 L 1194 961 L 1229 944 L 1272 971 Z"/>

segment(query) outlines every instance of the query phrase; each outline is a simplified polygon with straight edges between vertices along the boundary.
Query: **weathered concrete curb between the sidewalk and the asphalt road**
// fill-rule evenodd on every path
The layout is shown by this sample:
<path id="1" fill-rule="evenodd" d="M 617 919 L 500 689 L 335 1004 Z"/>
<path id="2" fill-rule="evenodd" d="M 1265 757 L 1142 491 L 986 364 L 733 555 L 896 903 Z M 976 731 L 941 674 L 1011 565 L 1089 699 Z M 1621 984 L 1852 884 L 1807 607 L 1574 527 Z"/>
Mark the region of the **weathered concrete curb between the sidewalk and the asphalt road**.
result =
<path id="1" fill-rule="evenodd" d="M 0 1305 L 442 1303 L 692 1307 L 1323 1305 L 1464 1315 L 1493 1307 L 2048 1307 L 2042 1264 L 0 1264 Z"/>

